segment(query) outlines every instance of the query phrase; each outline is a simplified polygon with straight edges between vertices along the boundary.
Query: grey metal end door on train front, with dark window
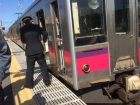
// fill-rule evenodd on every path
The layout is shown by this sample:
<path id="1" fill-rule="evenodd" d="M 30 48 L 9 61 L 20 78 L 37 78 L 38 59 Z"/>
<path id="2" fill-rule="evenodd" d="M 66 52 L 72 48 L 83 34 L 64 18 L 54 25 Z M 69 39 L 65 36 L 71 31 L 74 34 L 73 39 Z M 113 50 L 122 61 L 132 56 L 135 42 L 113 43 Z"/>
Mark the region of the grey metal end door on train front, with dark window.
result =
<path id="1" fill-rule="evenodd" d="M 111 71 L 134 70 L 138 68 L 135 0 L 110 0 L 108 4 Z"/>

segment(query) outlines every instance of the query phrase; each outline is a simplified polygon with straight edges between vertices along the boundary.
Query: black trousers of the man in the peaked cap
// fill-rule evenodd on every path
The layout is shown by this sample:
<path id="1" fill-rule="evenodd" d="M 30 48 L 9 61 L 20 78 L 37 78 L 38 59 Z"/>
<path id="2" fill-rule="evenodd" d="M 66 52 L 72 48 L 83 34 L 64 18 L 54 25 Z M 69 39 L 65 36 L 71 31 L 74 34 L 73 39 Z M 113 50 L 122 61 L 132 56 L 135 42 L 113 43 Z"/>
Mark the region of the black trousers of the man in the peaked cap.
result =
<path id="1" fill-rule="evenodd" d="M 35 61 L 37 61 L 40 66 L 43 75 L 43 82 L 49 82 L 49 73 L 47 70 L 45 55 L 43 53 L 39 53 L 36 55 L 27 56 L 26 87 L 28 88 L 33 88 L 33 74 Z"/>

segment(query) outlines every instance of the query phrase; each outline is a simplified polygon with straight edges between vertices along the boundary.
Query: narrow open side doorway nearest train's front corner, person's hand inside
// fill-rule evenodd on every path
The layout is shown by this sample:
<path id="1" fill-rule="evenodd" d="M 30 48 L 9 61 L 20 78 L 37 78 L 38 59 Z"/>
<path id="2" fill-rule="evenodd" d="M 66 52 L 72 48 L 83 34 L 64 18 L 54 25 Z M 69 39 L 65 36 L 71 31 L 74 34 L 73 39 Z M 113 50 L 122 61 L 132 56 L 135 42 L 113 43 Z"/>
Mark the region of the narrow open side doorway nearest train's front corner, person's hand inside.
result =
<path id="1" fill-rule="evenodd" d="M 52 21 L 54 23 L 54 41 L 56 42 L 55 51 L 57 54 L 57 65 L 59 67 L 59 72 L 65 73 L 64 66 L 64 54 L 63 54 L 63 43 L 62 43 L 62 35 L 61 35 L 61 25 L 59 20 L 59 8 L 57 2 L 51 4 L 51 15 Z"/>

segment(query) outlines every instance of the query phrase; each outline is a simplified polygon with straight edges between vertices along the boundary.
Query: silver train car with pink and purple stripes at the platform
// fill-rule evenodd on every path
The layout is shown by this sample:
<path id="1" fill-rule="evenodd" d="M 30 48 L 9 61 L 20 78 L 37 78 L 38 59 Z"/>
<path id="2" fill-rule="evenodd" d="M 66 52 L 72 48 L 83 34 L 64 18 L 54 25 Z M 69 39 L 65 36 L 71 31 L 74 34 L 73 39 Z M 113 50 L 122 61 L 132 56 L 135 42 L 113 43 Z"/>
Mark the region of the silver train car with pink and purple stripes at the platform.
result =
<path id="1" fill-rule="evenodd" d="M 7 36 L 25 49 L 19 28 L 21 18 L 31 16 L 33 24 L 48 32 L 42 45 L 49 53 L 51 72 L 80 98 L 86 103 L 133 102 L 140 98 L 139 4 L 140 0 L 36 0 Z"/>

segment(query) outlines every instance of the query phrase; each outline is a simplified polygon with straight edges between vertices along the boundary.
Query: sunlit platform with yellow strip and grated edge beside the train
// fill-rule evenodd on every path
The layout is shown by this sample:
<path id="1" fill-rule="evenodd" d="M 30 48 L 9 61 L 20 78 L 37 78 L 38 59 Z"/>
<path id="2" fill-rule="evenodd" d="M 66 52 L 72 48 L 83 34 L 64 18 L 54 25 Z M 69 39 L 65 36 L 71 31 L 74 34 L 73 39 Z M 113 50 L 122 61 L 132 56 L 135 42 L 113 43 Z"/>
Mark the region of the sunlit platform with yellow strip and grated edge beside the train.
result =
<path id="1" fill-rule="evenodd" d="M 86 105 L 51 74 L 52 84 L 49 87 L 45 86 L 37 63 L 34 70 L 34 88 L 25 88 L 25 73 L 27 69 L 25 52 L 12 40 L 7 39 L 7 43 L 11 49 L 12 62 L 10 69 L 6 71 L 6 74 L 9 76 L 5 77 L 3 87 L 5 89 L 9 86 L 8 91 L 5 90 L 5 93 L 13 95 L 9 96 L 13 97 L 13 102 L 11 98 L 5 99 L 6 105 Z M 47 63 L 49 63 L 49 60 L 47 60 Z"/>

